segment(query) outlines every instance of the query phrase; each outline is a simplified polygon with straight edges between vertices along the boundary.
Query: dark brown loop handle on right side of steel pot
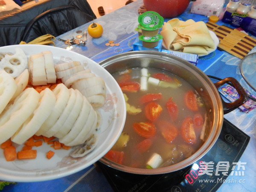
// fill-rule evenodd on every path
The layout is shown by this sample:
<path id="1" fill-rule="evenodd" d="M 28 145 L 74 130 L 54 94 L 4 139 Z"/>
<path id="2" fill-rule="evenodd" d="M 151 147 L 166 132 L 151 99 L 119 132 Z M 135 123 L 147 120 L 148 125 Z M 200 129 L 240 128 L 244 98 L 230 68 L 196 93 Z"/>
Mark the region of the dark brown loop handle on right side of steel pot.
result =
<path id="1" fill-rule="evenodd" d="M 224 114 L 227 114 L 227 113 L 233 111 L 234 109 L 238 108 L 240 105 L 243 105 L 248 100 L 248 95 L 246 94 L 244 88 L 233 77 L 227 77 L 225 79 L 221 79 L 220 81 L 214 83 L 214 85 L 215 85 L 215 87 L 218 90 L 218 88 L 221 85 L 224 85 L 227 82 L 232 83 L 233 87 L 236 88 L 236 91 L 239 93 L 239 98 L 236 101 L 234 101 L 234 102 L 229 102 L 228 103 L 228 102 L 224 102 L 224 100 L 221 97 Z"/>

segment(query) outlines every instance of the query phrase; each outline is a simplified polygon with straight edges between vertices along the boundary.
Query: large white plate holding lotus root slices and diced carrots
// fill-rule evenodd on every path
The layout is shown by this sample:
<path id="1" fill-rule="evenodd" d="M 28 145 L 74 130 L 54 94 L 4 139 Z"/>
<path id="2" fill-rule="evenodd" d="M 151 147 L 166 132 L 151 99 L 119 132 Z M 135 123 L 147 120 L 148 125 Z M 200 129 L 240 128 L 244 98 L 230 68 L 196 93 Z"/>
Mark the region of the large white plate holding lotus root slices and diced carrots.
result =
<path id="1" fill-rule="evenodd" d="M 66 49 L 48 45 L 25 44 L 0 47 L 0 52 L 14 53 L 16 47 L 23 49 L 26 55 L 49 50 L 53 54 L 55 64 L 67 61 L 81 61 L 81 63 L 87 64 L 92 73 L 101 76 L 105 80 L 107 96 L 105 105 L 99 109 L 102 116 L 102 122 L 99 126 L 99 141 L 97 147 L 90 154 L 81 158 L 72 158 L 69 156 L 70 150 L 59 149 L 54 150 L 55 155 L 48 160 L 46 152 L 52 148 L 44 143 L 40 147 L 33 147 L 38 151 L 36 159 L 7 162 L 3 156 L 3 150 L 0 149 L 2 150 L 0 152 L 0 180 L 16 182 L 52 180 L 71 175 L 92 165 L 116 143 L 125 124 L 125 100 L 117 82 L 107 70 L 93 60 Z M 21 147 L 17 146 L 17 151 Z"/>

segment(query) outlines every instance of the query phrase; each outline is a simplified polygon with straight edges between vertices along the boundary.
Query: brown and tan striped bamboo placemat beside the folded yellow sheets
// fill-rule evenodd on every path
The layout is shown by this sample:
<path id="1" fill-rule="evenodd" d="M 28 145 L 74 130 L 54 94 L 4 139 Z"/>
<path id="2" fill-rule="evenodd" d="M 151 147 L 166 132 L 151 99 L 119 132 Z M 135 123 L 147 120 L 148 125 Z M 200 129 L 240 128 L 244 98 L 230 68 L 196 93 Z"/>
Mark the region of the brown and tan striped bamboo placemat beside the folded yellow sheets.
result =
<path id="1" fill-rule="evenodd" d="M 245 33 L 231 29 L 227 26 L 220 26 L 208 21 L 206 23 L 209 30 L 215 32 L 220 43 L 218 48 L 229 52 L 230 54 L 242 59 L 253 47 L 256 46 L 256 39 Z"/>

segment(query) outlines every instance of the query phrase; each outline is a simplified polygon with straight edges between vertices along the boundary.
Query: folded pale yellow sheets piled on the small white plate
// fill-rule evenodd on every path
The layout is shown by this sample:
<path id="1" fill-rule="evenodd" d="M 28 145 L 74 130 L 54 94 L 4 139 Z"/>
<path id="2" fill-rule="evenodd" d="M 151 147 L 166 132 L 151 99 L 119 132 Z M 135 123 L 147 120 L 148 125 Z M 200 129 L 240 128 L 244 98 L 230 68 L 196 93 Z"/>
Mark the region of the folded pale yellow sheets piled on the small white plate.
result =
<path id="1" fill-rule="evenodd" d="M 166 49 L 207 55 L 215 48 L 214 41 L 203 21 L 192 19 L 181 21 L 177 18 L 163 24 L 160 32 Z"/>

